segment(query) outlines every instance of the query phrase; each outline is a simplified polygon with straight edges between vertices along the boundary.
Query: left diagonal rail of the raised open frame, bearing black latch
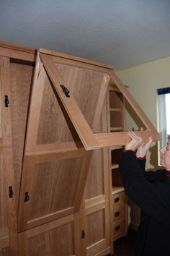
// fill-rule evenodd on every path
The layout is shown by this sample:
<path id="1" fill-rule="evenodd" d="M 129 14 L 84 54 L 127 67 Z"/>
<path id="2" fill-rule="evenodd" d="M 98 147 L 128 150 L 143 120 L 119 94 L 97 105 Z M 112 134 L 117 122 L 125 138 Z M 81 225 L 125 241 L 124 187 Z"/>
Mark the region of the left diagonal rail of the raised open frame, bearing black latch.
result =
<path id="1" fill-rule="evenodd" d="M 69 98 L 66 97 L 65 93 L 63 93 L 60 85 L 66 86 L 66 82 L 62 80 L 61 74 L 56 69 L 53 61 L 51 61 L 50 56 L 40 54 L 40 59 L 42 61 L 42 64 L 44 64 L 45 71 L 47 72 L 51 82 L 53 83 L 53 89 L 61 99 L 61 102 L 63 103 L 63 106 L 66 109 L 66 112 L 70 117 L 73 126 L 75 127 L 76 132 L 78 133 L 81 142 L 84 145 L 84 148 L 86 148 L 86 150 L 96 148 L 97 140 L 94 137 L 94 134 L 89 127 L 89 124 L 84 118 L 84 115 L 81 113 L 79 106 L 76 104 L 76 101 L 73 99 L 71 93 Z"/>

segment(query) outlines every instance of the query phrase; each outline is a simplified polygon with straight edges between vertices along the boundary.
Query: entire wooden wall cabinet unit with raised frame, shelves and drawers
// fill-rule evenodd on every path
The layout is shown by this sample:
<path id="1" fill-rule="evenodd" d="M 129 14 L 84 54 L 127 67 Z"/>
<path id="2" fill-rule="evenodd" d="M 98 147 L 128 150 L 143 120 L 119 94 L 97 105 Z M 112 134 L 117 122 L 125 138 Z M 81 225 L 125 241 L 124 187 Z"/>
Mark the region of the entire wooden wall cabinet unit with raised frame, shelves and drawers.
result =
<path id="1" fill-rule="evenodd" d="M 0 93 L 0 255 L 112 253 L 128 228 L 125 98 L 159 139 L 138 103 L 110 65 L 9 43 Z"/>

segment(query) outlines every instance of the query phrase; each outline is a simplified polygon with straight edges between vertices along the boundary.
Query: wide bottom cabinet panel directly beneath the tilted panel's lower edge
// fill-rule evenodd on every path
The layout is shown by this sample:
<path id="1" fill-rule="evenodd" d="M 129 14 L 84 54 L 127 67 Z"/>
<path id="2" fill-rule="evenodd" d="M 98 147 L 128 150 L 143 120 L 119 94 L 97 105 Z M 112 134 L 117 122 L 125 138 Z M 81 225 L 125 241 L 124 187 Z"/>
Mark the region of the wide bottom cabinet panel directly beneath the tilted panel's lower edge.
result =
<path id="1" fill-rule="evenodd" d="M 79 244 L 79 218 L 70 215 L 20 233 L 19 255 L 81 256 Z"/>

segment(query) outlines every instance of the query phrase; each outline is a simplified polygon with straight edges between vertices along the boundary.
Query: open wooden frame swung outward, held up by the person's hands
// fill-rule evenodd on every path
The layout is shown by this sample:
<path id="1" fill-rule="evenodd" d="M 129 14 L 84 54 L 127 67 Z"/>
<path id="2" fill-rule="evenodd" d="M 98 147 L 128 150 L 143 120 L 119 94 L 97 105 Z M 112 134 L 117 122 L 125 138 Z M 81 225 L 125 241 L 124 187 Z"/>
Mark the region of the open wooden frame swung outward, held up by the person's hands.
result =
<path id="1" fill-rule="evenodd" d="M 48 54 L 50 54 L 50 52 L 48 52 Z M 53 59 L 51 58 L 51 56 L 48 56 L 48 54 L 40 54 L 40 59 L 44 64 L 46 72 L 48 72 L 48 76 L 53 83 L 53 88 L 58 94 L 58 97 L 61 99 L 63 107 L 66 109 L 66 112 L 70 117 L 71 122 L 73 123 L 73 127 L 75 127 L 76 132 L 78 133 L 81 142 L 84 145 L 84 148 L 86 148 L 86 150 L 90 150 L 109 147 L 113 145 L 125 145 L 130 140 L 127 132 L 117 132 L 116 134 L 93 134 L 86 119 L 84 119 L 84 116 L 81 114 L 79 107 L 74 101 L 73 96 L 71 95 L 71 97 L 64 97 L 63 91 L 60 87 L 60 85 L 63 85 L 64 82 L 60 74 L 55 71 L 55 64 L 53 63 Z M 132 95 L 130 95 L 127 88 L 125 88 L 125 86 L 119 80 L 115 72 L 113 72 L 112 69 L 109 68 L 102 68 L 99 69 L 99 71 L 106 72 L 110 75 L 112 80 L 117 85 L 117 88 L 120 89 L 127 101 L 138 114 L 141 121 L 143 121 L 143 124 L 146 126 L 147 130 L 138 132 L 138 135 L 143 137 L 144 141 L 148 139 L 149 135 L 153 137 L 153 140 L 160 140 L 161 137 L 160 135 L 158 135 L 155 127 L 153 127 L 151 121 L 148 119 L 146 114 L 144 114 L 143 110 L 140 108 Z M 64 83 L 64 85 L 66 85 L 66 83 Z"/>

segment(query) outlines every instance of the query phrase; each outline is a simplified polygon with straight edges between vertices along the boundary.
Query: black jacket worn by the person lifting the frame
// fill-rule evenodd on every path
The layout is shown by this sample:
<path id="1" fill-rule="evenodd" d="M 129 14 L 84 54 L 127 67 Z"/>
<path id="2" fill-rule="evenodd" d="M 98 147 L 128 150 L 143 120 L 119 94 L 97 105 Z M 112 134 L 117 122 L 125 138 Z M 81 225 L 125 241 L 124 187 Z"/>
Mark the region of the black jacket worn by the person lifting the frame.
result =
<path id="1" fill-rule="evenodd" d="M 137 232 L 138 256 L 170 256 L 170 182 L 165 171 L 146 172 L 146 160 L 124 151 L 120 172 L 125 192 L 141 209 Z"/>

